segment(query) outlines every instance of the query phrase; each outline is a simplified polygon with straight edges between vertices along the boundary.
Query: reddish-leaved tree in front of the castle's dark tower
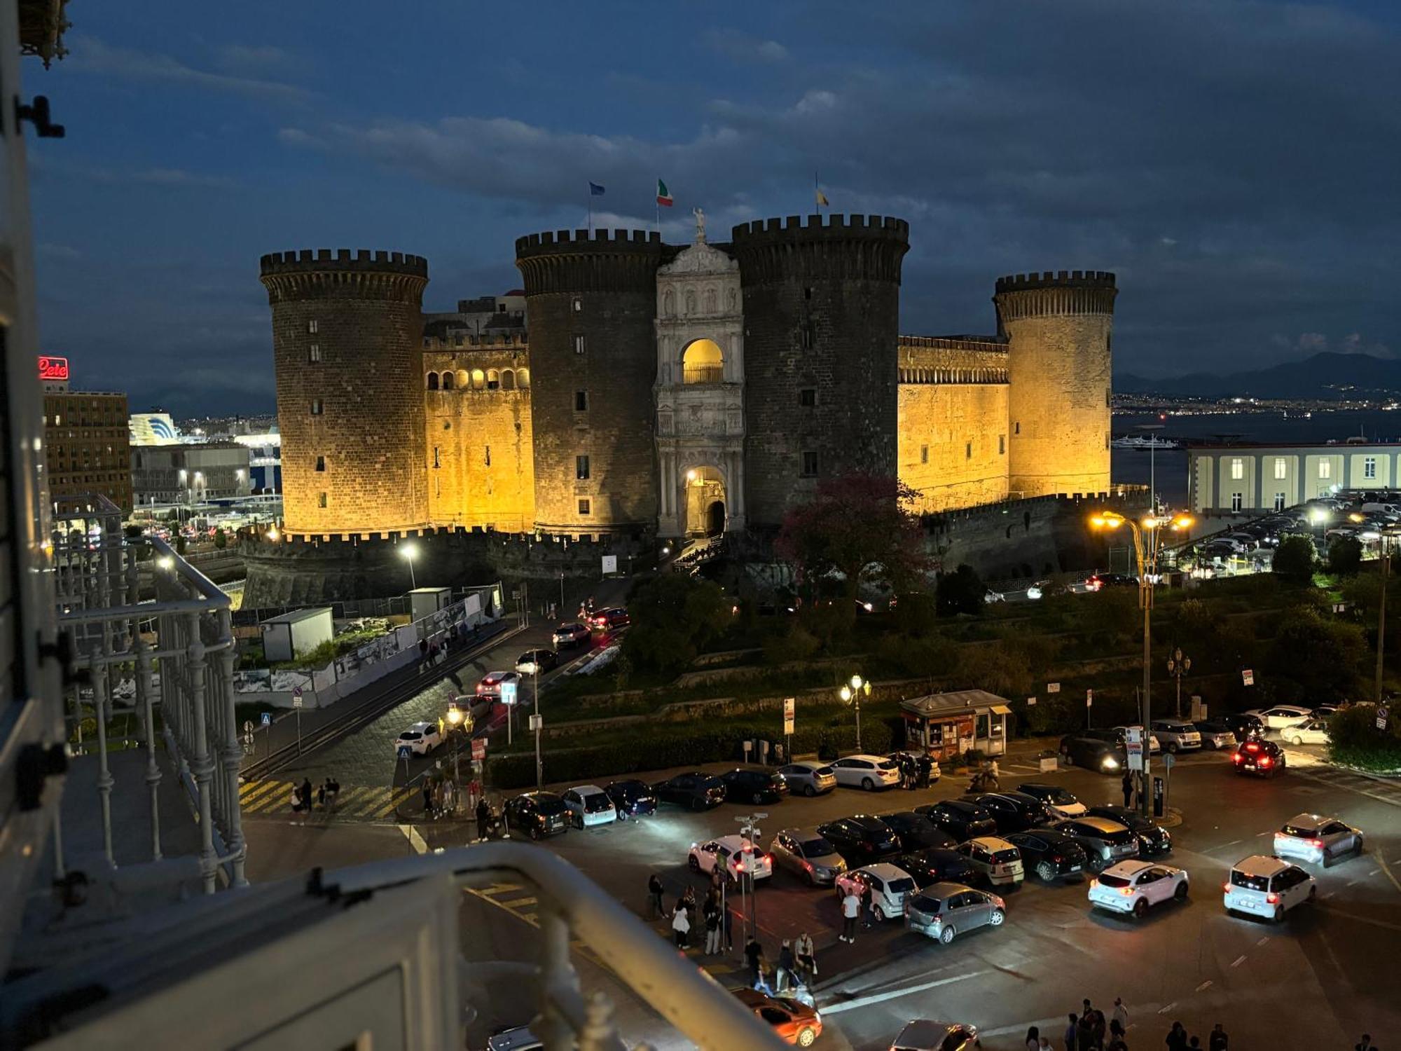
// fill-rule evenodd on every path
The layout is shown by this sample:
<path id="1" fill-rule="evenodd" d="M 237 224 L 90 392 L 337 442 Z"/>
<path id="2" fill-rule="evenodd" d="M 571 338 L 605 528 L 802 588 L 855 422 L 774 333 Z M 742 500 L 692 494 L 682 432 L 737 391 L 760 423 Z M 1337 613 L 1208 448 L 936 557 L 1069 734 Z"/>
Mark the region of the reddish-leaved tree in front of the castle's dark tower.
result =
<path id="1" fill-rule="evenodd" d="M 796 565 L 810 598 L 824 579 L 838 577 L 843 615 L 850 618 L 862 584 L 901 593 L 923 582 L 923 534 L 909 510 L 915 499 L 918 493 L 894 478 L 849 474 L 824 479 L 811 500 L 783 518 L 776 548 Z"/>

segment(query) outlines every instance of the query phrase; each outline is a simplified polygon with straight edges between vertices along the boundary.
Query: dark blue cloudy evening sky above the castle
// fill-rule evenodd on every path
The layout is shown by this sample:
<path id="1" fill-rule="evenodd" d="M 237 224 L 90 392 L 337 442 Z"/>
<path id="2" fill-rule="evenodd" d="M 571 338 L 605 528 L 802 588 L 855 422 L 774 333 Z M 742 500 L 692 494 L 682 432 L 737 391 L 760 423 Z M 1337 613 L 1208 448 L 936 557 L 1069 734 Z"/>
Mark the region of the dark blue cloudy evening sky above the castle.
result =
<path id="1" fill-rule="evenodd" d="M 262 252 L 429 256 L 429 308 L 516 235 L 835 210 L 911 223 L 902 328 L 993 279 L 1119 275 L 1117 367 L 1401 352 L 1401 15 L 1231 0 L 71 4 L 27 90 L 43 346 L 132 408 L 269 409 Z"/>

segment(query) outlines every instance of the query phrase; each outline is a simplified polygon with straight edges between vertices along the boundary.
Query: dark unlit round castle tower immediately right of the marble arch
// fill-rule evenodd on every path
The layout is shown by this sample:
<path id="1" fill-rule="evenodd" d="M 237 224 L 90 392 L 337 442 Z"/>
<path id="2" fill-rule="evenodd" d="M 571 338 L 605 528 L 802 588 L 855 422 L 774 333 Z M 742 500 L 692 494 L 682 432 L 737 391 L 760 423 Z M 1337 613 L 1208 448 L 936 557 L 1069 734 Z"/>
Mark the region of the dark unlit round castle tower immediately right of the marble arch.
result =
<path id="1" fill-rule="evenodd" d="M 744 287 L 745 500 L 778 526 L 820 478 L 895 476 L 899 270 L 909 224 L 799 216 L 734 227 Z"/>

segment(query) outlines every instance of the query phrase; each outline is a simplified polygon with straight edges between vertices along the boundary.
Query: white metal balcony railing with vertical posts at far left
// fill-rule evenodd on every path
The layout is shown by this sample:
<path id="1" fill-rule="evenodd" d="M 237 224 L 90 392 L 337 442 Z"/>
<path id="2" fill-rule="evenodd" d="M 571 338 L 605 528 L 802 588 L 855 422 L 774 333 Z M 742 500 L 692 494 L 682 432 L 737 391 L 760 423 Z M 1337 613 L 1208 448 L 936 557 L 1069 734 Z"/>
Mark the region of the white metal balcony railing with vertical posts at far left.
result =
<path id="1" fill-rule="evenodd" d="M 125 537 L 122 513 L 105 496 L 56 500 L 53 573 L 59 628 L 73 643 L 74 682 L 64 710 L 81 741 L 84 710 L 97 724 L 102 851 L 116 865 L 112 827 L 113 778 L 108 720 L 118 698 L 140 722 L 150 795 L 150 859 L 164 859 L 157 760 L 158 733 L 174 772 L 189 792 L 199 824 L 199 873 L 213 893 L 220 866 L 234 886 L 244 877 L 245 844 L 238 803 L 242 746 L 234 719 L 234 636 L 230 600 L 203 573 L 156 537 Z M 156 600 L 140 601 L 140 570 L 154 577 Z M 59 860 L 62 866 L 62 858 Z"/>

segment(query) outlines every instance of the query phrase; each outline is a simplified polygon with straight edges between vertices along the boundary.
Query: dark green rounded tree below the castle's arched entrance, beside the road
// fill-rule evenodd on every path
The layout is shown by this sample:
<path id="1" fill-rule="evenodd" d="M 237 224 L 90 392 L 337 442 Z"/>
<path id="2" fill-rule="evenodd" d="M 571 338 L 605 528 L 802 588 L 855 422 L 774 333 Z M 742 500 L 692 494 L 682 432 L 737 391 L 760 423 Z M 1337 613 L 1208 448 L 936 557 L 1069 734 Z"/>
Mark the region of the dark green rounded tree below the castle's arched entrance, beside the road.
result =
<path id="1" fill-rule="evenodd" d="M 719 584 L 689 573 L 663 573 L 637 583 L 628 596 L 632 628 L 622 654 L 632 666 L 679 671 L 730 626 L 734 603 Z"/>

